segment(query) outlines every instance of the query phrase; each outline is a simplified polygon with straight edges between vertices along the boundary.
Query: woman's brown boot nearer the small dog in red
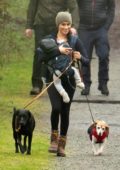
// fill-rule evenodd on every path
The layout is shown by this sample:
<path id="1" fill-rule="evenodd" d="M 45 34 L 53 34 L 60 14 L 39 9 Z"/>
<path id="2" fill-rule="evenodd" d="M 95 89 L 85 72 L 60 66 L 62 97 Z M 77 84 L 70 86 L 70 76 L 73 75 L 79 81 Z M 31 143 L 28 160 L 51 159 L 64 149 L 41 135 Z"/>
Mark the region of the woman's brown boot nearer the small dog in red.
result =
<path id="1" fill-rule="evenodd" d="M 58 142 L 57 156 L 65 157 L 66 136 L 60 136 Z"/>

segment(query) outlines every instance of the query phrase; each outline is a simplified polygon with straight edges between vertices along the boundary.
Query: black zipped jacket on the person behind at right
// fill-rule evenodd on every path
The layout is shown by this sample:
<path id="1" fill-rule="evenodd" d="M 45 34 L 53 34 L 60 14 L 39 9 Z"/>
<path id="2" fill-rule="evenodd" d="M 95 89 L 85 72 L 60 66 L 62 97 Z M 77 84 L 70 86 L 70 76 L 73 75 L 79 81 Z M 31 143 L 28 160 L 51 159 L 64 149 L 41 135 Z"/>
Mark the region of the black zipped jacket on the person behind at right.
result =
<path id="1" fill-rule="evenodd" d="M 80 29 L 109 29 L 115 14 L 115 0 L 77 0 Z"/>

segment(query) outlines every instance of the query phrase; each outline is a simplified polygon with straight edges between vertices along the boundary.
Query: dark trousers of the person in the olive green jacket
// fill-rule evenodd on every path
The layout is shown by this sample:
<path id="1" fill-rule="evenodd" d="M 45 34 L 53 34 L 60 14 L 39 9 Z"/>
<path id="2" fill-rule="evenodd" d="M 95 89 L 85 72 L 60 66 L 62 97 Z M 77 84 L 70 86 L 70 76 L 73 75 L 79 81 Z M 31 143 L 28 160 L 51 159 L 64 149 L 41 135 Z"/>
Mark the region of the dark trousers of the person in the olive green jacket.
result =
<path id="1" fill-rule="evenodd" d="M 53 27 L 46 27 L 45 25 L 37 25 L 34 27 L 35 32 L 35 50 L 39 45 L 39 41 L 46 35 L 54 31 Z M 46 65 L 42 64 L 39 57 L 34 54 L 33 58 L 33 72 L 32 72 L 32 86 L 42 89 L 43 83 L 41 77 L 46 76 Z"/>

